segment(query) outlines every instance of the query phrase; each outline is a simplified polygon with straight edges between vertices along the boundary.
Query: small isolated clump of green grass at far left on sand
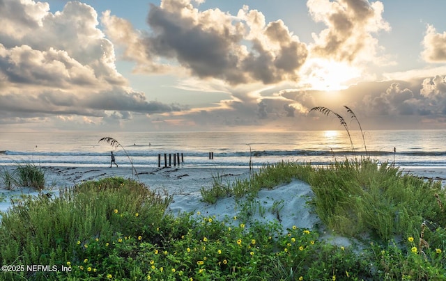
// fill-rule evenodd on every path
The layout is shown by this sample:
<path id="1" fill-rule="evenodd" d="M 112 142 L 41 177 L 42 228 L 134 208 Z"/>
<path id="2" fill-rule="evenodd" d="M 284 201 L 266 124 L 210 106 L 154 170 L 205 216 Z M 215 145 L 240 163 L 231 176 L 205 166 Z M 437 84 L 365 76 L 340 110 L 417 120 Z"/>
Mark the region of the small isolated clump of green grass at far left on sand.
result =
<path id="1" fill-rule="evenodd" d="M 38 190 L 45 188 L 45 171 L 31 162 L 17 163 L 12 172 L 3 168 L 0 178 L 7 189 L 16 186 L 29 186 Z"/>

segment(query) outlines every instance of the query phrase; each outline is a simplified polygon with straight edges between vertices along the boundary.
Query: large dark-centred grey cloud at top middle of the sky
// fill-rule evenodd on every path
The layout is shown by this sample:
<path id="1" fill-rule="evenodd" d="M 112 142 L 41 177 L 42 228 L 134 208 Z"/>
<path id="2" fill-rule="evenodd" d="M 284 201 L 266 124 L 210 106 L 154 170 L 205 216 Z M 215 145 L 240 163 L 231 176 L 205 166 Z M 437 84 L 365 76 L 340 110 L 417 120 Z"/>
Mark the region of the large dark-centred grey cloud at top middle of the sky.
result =
<path id="1" fill-rule="evenodd" d="M 155 61 L 162 57 L 201 79 L 268 84 L 297 81 L 308 54 L 284 22 L 266 24 L 261 12 L 247 6 L 233 16 L 219 9 L 199 11 L 187 0 L 163 0 L 160 6 L 151 5 L 148 32 L 132 31 L 128 22 L 109 13 L 102 22 L 139 71 L 166 70 Z"/>

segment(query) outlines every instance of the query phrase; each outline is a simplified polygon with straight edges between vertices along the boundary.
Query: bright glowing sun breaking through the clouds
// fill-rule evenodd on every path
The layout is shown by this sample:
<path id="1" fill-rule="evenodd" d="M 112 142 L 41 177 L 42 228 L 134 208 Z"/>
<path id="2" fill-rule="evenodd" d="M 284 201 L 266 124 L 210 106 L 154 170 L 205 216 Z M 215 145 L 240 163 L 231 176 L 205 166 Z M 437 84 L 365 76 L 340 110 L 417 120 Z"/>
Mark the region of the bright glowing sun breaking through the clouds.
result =
<path id="1" fill-rule="evenodd" d="M 348 63 L 313 58 L 304 67 L 304 79 L 313 90 L 343 90 L 361 71 Z"/>

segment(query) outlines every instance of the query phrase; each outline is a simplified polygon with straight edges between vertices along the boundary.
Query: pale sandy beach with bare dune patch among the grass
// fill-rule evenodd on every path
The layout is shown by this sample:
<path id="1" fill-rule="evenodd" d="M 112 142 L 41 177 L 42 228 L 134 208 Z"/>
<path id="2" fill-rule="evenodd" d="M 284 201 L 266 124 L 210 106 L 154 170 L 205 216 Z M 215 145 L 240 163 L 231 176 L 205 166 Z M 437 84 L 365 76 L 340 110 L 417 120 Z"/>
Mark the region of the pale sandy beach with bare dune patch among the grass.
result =
<path id="1" fill-rule="evenodd" d="M 153 191 L 164 195 L 172 195 L 173 201 L 166 210 L 169 214 L 176 215 L 183 212 L 197 214 L 199 212 L 201 216 L 215 216 L 217 219 L 237 216 L 241 208 L 240 200 L 233 197 L 223 198 L 215 204 L 209 204 L 201 200 L 201 188 L 210 188 L 216 177 L 220 177 L 222 183 L 249 177 L 249 168 L 192 168 L 181 166 L 176 168 L 137 168 L 137 176 L 132 175 L 132 168 L 129 167 L 45 167 L 43 169 L 45 170 L 48 186 L 44 193 L 50 193 L 52 196 L 59 195 L 59 188 L 61 187 L 70 187 L 103 177 L 124 177 L 143 182 Z M 443 180 L 446 176 L 445 168 L 418 167 L 401 170 L 436 180 Z M 17 200 L 16 198 L 20 198 L 22 194 L 38 195 L 38 192 L 32 188 L 16 188 L 13 191 L 0 188 L 0 195 L 3 195 L 3 200 L 0 202 L 0 211 L 7 211 L 11 199 Z M 313 193 L 309 184 L 299 180 L 293 180 L 289 184 L 276 186 L 270 190 L 262 190 L 255 201 L 266 211 L 263 214 L 260 214 L 259 211 L 256 212 L 252 216 L 252 221 L 278 222 L 282 225 L 283 230 L 294 225 L 307 229 L 313 229 L 316 226 L 321 227 L 321 220 L 307 204 L 312 196 Z M 280 202 L 280 206 L 283 206 L 279 216 L 275 212 L 268 211 L 277 202 Z M 330 239 L 332 243 L 342 246 L 351 244 L 349 239 L 333 235 L 330 230 L 323 233 L 325 233 L 325 238 Z"/>

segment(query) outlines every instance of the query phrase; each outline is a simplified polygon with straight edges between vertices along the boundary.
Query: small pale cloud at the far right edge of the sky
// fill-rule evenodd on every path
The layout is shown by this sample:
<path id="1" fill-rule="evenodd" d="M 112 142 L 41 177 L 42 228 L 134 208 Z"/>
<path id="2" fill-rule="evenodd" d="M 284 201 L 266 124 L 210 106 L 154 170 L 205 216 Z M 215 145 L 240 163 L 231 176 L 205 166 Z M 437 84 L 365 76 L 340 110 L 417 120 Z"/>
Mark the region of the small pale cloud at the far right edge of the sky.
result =
<path id="1" fill-rule="evenodd" d="M 433 26 L 428 25 L 422 44 L 424 45 L 422 57 L 425 61 L 429 63 L 446 61 L 446 32 L 437 33 Z"/>

